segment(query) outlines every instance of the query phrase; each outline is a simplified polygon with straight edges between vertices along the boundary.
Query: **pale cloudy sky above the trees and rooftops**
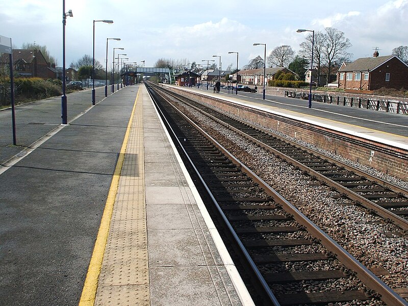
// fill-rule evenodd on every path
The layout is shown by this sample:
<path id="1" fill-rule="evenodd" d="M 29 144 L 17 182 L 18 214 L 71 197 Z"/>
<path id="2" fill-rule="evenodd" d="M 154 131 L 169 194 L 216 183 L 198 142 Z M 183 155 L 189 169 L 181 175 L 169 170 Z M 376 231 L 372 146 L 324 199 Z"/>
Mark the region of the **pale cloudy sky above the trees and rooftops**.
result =
<path id="1" fill-rule="evenodd" d="M 145 61 L 151 67 L 159 58 L 201 63 L 221 55 L 222 67 L 239 67 L 250 59 L 267 55 L 288 44 L 295 52 L 307 33 L 325 27 L 345 33 L 353 59 L 371 57 L 373 48 L 390 55 L 392 49 L 408 45 L 408 0 L 66 0 L 72 10 L 66 24 L 66 66 L 84 54 L 92 55 L 93 20 L 112 19 L 113 24 L 95 22 L 95 59 L 105 66 L 106 39 L 109 63 L 112 48 L 123 47 L 130 62 Z M 62 0 L 0 0 L 0 35 L 11 37 L 15 48 L 24 42 L 45 45 L 62 66 Z M 117 50 L 116 50 L 117 52 Z"/>

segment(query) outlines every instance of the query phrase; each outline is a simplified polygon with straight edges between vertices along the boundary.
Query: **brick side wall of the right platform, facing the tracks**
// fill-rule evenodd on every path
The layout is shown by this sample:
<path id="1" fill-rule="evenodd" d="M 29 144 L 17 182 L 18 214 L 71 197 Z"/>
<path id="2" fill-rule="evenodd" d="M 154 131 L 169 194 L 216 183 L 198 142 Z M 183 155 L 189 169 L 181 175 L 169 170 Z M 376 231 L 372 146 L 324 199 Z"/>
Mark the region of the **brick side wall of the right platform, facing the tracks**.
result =
<path id="1" fill-rule="evenodd" d="M 362 165 L 367 165 L 381 172 L 396 176 L 401 180 L 408 181 L 408 151 L 406 150 L 342 134 L 324 127 L 288 119 L 265 111 L 238 106 L 227 101 L 219 101 L 204 95 L 188 93 L 174 87 L 171 90 L 199 99 L 231 114 L 316 145 L 319 148 L 359 162 Z"/>

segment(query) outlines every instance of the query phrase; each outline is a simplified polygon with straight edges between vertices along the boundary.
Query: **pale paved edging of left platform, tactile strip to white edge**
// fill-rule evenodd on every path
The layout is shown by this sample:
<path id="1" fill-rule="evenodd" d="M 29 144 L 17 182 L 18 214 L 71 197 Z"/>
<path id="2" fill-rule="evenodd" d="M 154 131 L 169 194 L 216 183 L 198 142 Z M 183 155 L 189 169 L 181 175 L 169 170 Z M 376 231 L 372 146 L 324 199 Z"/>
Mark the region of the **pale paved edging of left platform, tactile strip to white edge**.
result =
<path id="1" fill-rule="evenodd" d="M 144 86 L 130 122 L 102 221 L 111 219 L 105 252 L 95 243 L 95 256 L 104 253 L 95 305 L 250 305 Z M 99 235 L 108 235 L 107 228 L 101 225 Z M 98 264 L 91 261 L 80 305 L 93 304 Z"/>

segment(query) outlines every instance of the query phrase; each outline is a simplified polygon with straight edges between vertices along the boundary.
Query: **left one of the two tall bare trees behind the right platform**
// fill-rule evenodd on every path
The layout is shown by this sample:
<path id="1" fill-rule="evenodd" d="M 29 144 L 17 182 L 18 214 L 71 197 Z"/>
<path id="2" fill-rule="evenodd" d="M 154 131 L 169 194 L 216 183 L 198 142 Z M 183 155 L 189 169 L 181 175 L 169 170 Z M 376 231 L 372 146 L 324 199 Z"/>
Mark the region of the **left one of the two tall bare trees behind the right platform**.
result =
<path id="1" fill-rule="evenodd" d="M 300 44 L 299 54 L 305 59 L 312 60 L 312 34 L 305 37 L 304 41 Z M 317 84 L 320 84 L 321 68 L 323 64 L 323 45 L 324 34 L 320 31 L 315 32 L 315 40 L 313 44 L 313 66 L 317 70 Z M 310 65 L 309 65 L 310 67 Z"/>

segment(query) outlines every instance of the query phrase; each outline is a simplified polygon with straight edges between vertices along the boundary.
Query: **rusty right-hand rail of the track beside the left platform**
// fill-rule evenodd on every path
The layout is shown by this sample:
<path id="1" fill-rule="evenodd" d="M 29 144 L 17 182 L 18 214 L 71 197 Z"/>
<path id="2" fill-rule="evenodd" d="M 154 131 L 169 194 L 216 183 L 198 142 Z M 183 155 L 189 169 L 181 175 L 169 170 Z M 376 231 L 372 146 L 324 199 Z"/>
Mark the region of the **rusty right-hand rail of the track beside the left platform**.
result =
<path id="1" fill-rule="evenodd" d="M 170 105 L 172 105 L 170 103 Z M 173 108 L 175 108 L 172 105 Z M 233 156 L 227 149 L 225 149 L 220 143 L 218 143 L 211 135 L 207 134 L 196 123 L 189 119 L 186 115 L 177 110 L 190 124 L 196 127 L 196 129 L 210 140 L 214 145 L 221 150 L 231 161 L 241 168 L 248 176 L 250 176 L 254 182 L 258 183 L 268 195 L 270 195 L 276 203 L 282 205 L 286 212 L 292 215 L 292 217 L 303 225 L 307 231 L 314 236 L 319 242 L 326 247 L 329 251 L 336 254 L 337 259 L 340 260 L 348 269 L 354 271 L 361 281 L 371 290 L 377 292 L 381 299 L 389 305 L 404 305 L 408 303 L 395 293 L 389 286 L 382 282 L 376 275 L 374 275 L 369 269 L 367 269 L 362 263 L 356 260 L 349 252 L 347 252 L 336 241 L 331 239 L 326 233 L 324 233 L 315 223 L 309 220 L 303 215 L 296 207 L 294 207 L 289 201 L 282 197 L 277 191 L 270 187 L 265 181 L 261 179 L 256 173 L 250 170 L 247 166 L 241 163 L 235 156 Z M 226 217 L 225 217 L 226 218 Z M 228 222 L 229 223 L 229 222 Z M 235 231 L 234 231 L 235 232 Z M 239 238 L 238 238 L 239 239 Z M 241 243 L 242 244 L 242 243 Z M 245 247 L 242 245 L 245 249 Z M 249 255 L 248 255 L 249 256 Z M 253 263 L 252 259 L 250 259 Z M 262 275 L 261 275 L 262 276 Z M 262 277 L 263 278 L 263 277 Z M 273 294 L 273 293 L 272 293 Z"/>

